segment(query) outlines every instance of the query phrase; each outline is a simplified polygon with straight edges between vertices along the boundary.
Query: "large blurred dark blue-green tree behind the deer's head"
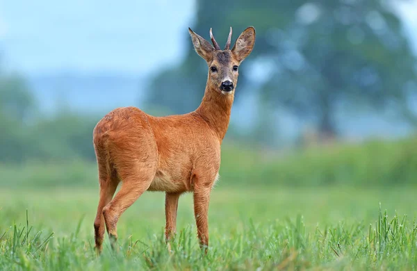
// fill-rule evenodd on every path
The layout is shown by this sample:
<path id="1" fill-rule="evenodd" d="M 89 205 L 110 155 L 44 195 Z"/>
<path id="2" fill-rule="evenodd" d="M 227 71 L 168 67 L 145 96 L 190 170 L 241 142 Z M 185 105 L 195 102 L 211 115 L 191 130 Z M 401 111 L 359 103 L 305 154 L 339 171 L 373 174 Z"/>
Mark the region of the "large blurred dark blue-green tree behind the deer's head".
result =
<path id="1" fill-rule="evenodd" d="M 396 107 L 414 120 L 407 95 L 416 90 L 416 60 L 390 3 L 199 0 L 192 28 L 208 39 L 213 27 L 220 43 L 229 26 L 234 40 L 244 28 L 255 26 L 255 48 L 246 60 L 254 65 L 243 65 L 240 85 L 257 82 L 263 102 L 284 105 L 315 122 L 321 136 L 334 136 L 334 115 L 341 104 Z M 147 92 L 150 103 L 174 113 L 194 110 L 206 83 L 206 63 L 194 53 L 187 31 L 184 38 L 186 58 L 156 75 Z M 245 71 L 251 66 L 256 73 Z"/>

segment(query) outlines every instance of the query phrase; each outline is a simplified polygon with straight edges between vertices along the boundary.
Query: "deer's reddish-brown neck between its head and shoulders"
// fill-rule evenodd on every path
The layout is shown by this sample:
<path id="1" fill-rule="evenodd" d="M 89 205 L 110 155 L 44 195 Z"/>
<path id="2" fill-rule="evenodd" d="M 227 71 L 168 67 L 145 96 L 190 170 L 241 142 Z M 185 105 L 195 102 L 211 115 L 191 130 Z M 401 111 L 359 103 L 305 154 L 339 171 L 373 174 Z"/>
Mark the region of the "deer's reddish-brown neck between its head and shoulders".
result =
<path id="1" fill-rule="evenodd" d="M 223 95 L 207 84 L 202 103 L 197 110 L 195 110 L 195 112 L 206 120 L 208 125 L 210 125 L 217 133 L 220 143 L 229 127 L 233 100 L 234 93 Z"/>

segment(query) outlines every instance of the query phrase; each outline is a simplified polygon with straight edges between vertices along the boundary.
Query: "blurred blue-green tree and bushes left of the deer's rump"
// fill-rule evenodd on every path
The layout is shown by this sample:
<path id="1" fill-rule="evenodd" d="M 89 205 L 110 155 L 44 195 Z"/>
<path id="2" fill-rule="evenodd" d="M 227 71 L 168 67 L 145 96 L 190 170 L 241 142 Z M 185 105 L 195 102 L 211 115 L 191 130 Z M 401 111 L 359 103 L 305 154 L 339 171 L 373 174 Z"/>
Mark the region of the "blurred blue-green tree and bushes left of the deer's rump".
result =
<path id="1" fill-rule="evenodd" d="M 97 120 L 63 110 L 39 118 L 26 81 L 0 65 L 0 162 L 95 159 L 92 129 Z"/>

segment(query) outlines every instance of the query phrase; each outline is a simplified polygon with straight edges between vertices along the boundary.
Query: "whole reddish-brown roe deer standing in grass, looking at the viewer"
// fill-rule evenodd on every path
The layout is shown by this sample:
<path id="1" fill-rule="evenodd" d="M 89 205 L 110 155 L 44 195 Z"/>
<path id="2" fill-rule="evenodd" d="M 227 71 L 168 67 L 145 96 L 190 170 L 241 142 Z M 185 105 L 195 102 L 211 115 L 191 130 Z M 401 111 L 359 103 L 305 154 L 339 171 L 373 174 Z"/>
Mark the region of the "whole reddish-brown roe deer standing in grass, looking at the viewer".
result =
<path id="1" fill-rule="evenodd" d="M 238 67 L 250 55 L 255 29 L 243 31 L 230 49 L 220 49 L 210 28 L 213 45 L 188 28 L 193 47 L 208 65 L 201 104 L 183 115 L 156 117 L 139 108 L 116 108 L 93 129 L 97 158 L 99 204 L 95 217 L 95 249 L 102 251 L 105 227 L 117 250 L 117 221 L 145 191 L 165 192 L 165 241 L 174 237 L 179 197 L 193 193 L 199 246 L 208 247 L 208 203 L 218 180 L 220 147 L 229 127 L 238 83 Z M 115 197 L 117 186 L 120 190 Z"/>

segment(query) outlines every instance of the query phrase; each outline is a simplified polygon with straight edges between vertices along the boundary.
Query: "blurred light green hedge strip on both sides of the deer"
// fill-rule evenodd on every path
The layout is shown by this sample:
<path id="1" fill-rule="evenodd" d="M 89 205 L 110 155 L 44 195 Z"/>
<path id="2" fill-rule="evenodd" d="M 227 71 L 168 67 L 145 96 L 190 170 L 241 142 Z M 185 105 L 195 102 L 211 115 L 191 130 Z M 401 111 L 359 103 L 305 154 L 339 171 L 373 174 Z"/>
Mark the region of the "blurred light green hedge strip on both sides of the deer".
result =
<path id="1" fill-rule="evenodd" d="M 415 184 L 417 142 L 371 141 L 275 154 L 224 142 L 221 186 L 398 186 Z M 57 154 L 57 157 L 59 154 Z M 76 157 L 76 156 L 74 156 Z M 63 162 L 65 161 L 65 162 Z M 97 186 L 97 165 L 83 160 L 0 165 L 4 187 Z"/>

